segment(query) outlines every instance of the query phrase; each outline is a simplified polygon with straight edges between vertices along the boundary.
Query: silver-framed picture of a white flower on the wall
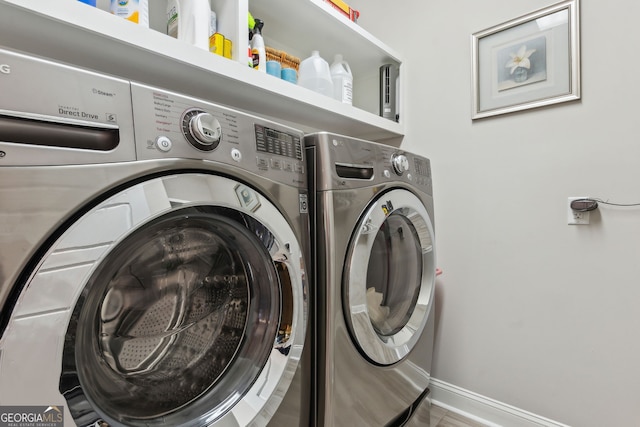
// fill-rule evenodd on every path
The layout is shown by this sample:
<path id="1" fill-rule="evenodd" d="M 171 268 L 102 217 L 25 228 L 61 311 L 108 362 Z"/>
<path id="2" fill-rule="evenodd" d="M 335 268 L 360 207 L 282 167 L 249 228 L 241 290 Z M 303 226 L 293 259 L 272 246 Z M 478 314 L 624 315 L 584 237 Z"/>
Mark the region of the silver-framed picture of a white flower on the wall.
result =
<path id="1" fill-rule="evenodd" d="M 579 0 L 471 35 L 471 118 L 580 99 Z"/>

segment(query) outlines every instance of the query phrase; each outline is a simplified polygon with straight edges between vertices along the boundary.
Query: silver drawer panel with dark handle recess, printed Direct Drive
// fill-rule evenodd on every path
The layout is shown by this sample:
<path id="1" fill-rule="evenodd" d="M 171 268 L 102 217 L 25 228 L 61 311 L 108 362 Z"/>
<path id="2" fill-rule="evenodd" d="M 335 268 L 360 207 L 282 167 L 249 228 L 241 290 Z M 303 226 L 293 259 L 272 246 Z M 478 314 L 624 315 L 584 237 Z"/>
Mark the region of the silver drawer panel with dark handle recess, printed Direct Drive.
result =
<path id="1" fill-rule="evenodd" d="M 126 80 L 0 49 L 0 166 L 133 161 Z"/>

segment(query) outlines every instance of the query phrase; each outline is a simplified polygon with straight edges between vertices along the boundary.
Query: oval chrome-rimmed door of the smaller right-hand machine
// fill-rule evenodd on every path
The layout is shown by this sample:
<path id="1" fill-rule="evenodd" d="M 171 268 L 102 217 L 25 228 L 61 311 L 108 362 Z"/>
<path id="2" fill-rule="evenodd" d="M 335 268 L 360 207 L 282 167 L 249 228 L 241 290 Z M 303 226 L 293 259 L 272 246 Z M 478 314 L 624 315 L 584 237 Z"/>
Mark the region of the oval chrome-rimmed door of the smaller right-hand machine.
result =
<path id="1" fill-rule="evenodd" d="M 427 321 L 435 281 L 433 226 L 406 190 L 380 196 L 359 223 L 345 264 L 347 324 L 372 362 L 402 360 Z"/>

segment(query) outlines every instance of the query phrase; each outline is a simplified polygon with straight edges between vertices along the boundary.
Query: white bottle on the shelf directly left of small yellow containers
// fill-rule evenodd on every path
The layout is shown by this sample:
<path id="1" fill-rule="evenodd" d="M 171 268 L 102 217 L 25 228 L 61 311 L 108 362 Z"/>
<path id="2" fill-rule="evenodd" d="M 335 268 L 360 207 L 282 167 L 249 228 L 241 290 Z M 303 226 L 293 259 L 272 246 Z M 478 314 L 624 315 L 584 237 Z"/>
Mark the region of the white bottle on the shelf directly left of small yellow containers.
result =
<path id="1" fill-rule="evenodd" d="M 209 0 L 170 0 L 167 2 L 167 34 L 200 49 L 209 50 L 211 35 Z"/>

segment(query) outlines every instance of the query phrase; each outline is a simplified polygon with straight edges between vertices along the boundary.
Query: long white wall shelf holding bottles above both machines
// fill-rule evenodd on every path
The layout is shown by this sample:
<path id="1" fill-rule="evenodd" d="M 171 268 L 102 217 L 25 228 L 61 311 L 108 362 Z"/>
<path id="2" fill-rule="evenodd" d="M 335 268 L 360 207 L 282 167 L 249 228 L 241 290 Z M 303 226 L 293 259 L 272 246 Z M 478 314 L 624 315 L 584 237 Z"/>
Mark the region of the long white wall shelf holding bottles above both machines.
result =
<path id="1" fill-rule="evenodd" d="M 150 3 L 150 7 L 162 4 L 162 10 L 166 5 L 162 0 Z M 246 8 L 243 1 L 224 3 L 226 25 L 236 38 L 247 34 L 243 3 Z M 233 17 L 228 16 L 229 4 L 236 5 Z M 273 40 L 273 47 L 291 45 L 294 55 L 304 51 L 310 54 L 318 38 L 323 46 L 332 47 L 324 49 L 327 55 L 344 47 L 341 53 L 350 61 L 355 78 L 361 75 L 362 81 L 369 81 L 364 92 L 376 91 L 375 99 L 377 84 L 371 86 L 377 78 L 372 73 L 377 75 L 383 63 L 401 63 L 398 55 L 323 0 L 251 0 L 248 7 L 254 16 L 269 22 L 265 33 L 271 33 L 265 39 L 267 44 Z M 404 134 L 401 123 L 374 113 L 377 105 L 372 106 L 370 100 L 366 106 L 355 101 L 356 106 L 342 104 L 250 69 L 246 57 L 240 54 L 246 51 L 242 43 L 234 41 L 236 58 L 229 60 L 173 39 L 159 28 L 163 16 L 156 11 L 149 29 L 74 0 L 0 0 L 0 45 L 272 117 L 305 131 L 327 130 L 372 140 Z M 229 26 L 229 20 L 234 19 L 237 24 Z M 315 28 L 307 28 L 303 19 L 313 22 Z M 321 29 L 327 31 L 326 37 L 314 34 Z M 299 37 L 300 32 L 306 35 Z"/>

